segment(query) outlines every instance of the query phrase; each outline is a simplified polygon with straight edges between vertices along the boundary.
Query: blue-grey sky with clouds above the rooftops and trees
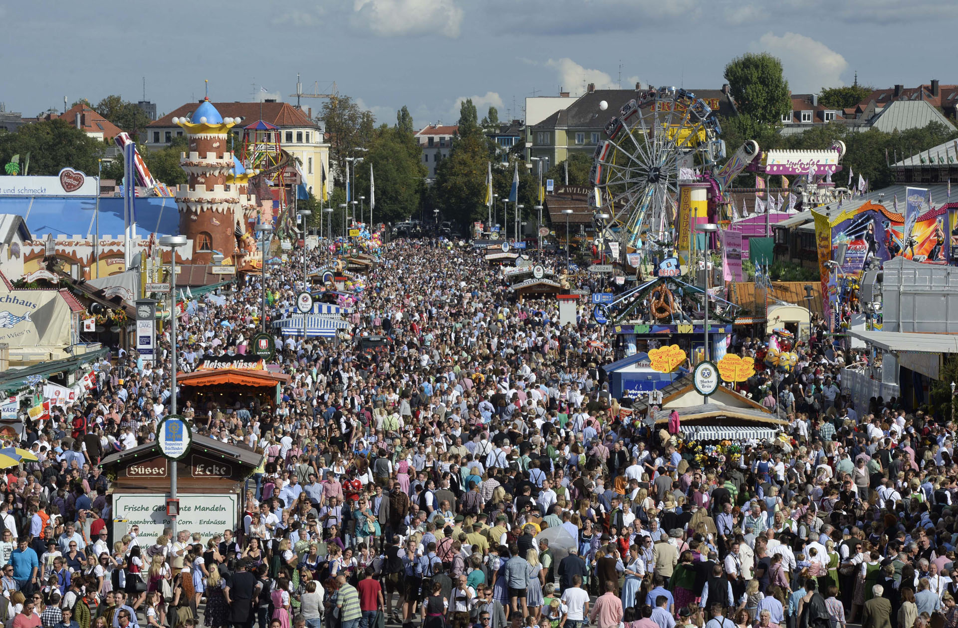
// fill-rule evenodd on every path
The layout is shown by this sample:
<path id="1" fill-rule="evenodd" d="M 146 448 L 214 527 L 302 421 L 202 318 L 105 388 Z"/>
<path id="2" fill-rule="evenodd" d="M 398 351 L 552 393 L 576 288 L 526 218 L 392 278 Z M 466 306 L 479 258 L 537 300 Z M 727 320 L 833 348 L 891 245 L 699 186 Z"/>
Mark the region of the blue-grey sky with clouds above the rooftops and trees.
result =
<path id="1" fill-rule="evenodd" d="M 33 116 L 108 94 L 161 113 L 203 96 L 286 101 L 335 80 L 341 94 L 395 123 L 454 123 L 458 102 L 522 117 L 525 97 L 586 82 L 717 88 L 747 51 L 782 58 L 792 91 L 858 80 L 878 87 L 958 82 L 946 0 L 0 0 L 8 111 Z M 305 101 L 313 111 L 322 101 Z M 514 104 L 513 104 L 514 103 Z"/>

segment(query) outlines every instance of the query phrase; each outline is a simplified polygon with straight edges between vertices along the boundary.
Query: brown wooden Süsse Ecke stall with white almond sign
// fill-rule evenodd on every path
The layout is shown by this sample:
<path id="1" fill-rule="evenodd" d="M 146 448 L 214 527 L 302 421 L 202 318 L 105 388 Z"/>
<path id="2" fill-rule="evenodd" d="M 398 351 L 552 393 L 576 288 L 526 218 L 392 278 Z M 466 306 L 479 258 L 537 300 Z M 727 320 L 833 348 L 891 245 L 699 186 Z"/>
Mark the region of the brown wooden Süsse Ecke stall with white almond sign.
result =
<path id="1" fill-rule="evenodd" d="M 262 461 L 262 450 L 237 447 L 214 438 L 195 436 L 186 455 L 167 460 L 159 445 L 146 443 L 107 456 L 103 473 L 113 488 L 113 538 L 138 526 L 139 536 L 152 543 L 170 527 L 170 465 L 176 464 L 178 530 L 199 532 L 203 543 L 242 523 L 244 481 Z"/>

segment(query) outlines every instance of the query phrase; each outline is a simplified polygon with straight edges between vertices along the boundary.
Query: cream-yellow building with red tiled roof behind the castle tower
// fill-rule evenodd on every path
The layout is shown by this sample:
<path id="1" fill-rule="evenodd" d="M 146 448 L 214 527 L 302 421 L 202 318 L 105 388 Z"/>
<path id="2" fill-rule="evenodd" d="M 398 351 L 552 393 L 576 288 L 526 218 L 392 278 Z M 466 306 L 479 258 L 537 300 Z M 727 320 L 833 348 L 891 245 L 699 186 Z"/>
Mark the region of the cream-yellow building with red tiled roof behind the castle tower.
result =
<path id="1" fill-rule="evenodd" d="M 202 102 L 202 101 L 201 101 Z M 322 180 L 322 168 L 326 168 L 327 179 L 330 174 L 330 145 L 326 143 L 323 129 L 312 121 L 312 110 L 297 109 L 286 102 L 213 102 L 224 118 L 239 118 L 242 122 L 230 129 L 229 142 L 232 150 L 239 155 L 243 140 L 243 127 L 262 120 L 279 128 L 283 149 L 299 162 L 303 173 L 302 183 L 311 193 L 319 196 Z M 170 146 L 173 139 L 182 136 L 184 131 L 172 123 L 173 118 L 189 120 L 198 104 L 187 103 L 177 107 L 171 113 L 161 117 L 147 127 L 142 137 L 147 148 Z M 286 168 L 285 181 L 298 180 L 292 166 Z"/>

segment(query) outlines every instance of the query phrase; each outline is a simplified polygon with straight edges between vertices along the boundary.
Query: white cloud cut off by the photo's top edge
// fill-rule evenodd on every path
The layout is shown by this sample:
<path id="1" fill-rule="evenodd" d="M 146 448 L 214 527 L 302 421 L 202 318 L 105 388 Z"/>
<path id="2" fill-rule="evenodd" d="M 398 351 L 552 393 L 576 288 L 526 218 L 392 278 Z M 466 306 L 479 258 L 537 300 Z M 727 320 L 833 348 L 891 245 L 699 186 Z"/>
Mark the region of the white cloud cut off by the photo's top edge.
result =
<path id="1" fill-rule="evenodd" d="M 354 0 L 354 23 L 376 34 L 458 37 L 463 10 L 457 0 Z"/>

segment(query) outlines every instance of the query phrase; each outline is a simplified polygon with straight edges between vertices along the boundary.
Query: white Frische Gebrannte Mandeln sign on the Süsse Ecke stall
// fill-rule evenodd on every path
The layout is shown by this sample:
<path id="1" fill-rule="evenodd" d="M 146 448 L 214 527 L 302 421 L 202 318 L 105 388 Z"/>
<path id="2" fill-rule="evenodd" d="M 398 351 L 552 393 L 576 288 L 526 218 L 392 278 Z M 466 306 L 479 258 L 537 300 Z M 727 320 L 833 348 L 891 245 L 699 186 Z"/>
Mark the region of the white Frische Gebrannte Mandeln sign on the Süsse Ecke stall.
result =
<path id="1" fill-rule="evenodd" d="M 113 495 L 114 520 L 126 520 L 120 526 L 140 527 L 140 537 L 155 539 L 163 534 L 163 528 L 170 526 L 170 517 L 167 516 L 167 497 L 165 493 L 115 493 Z M 176 516 L 176 526 L 179 529 L 188 529 L 199 532 L 199 535 L 208 539 L 214 534 L 222 534 L 224 529 L 237 527 L 237 500 L 232 493 L 216 495 L 196 495 L 179 493 L 179 514 Z M 118 524 L 114 524 L 118 526 Z M 125 528 L 114 527 L 116 538 L 125 534 Z"/>

